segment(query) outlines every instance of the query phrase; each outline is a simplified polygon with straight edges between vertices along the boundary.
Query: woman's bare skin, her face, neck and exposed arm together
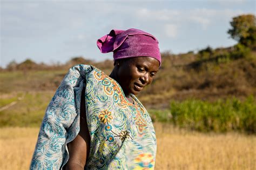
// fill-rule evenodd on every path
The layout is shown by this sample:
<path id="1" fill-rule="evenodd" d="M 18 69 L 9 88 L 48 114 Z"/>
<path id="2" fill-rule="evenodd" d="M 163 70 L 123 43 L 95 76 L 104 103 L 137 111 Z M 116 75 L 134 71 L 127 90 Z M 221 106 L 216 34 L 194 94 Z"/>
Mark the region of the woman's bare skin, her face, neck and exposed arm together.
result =
<path id="1" fill-rule="evenodd" d="M 130 94 L 137 95 L 143 88 L 152 83 L 159 69 L 159 62 L 152 57 L 134 57 L 116 60 L 110 77 L 122 87 L 125 97 L 131 103 Z M 90 134 L 87 128 L 85 113 L 84 89 L 80 107 L 80 132 L 68 144 L 69 161 L 63 169 L 84 169 L 90 152 Z"/>

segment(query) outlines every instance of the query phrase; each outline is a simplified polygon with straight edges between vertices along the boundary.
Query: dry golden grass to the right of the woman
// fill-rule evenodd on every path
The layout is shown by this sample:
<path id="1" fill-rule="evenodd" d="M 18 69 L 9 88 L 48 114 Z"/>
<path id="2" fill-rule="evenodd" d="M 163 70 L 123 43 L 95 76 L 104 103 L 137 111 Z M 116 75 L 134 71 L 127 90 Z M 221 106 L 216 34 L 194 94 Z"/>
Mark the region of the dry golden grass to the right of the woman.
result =
<path id="1" fill-rule="evenodd" d="M 255 169 L 256 137 L 202 134 L 155 124 L 156 169 Z"/>

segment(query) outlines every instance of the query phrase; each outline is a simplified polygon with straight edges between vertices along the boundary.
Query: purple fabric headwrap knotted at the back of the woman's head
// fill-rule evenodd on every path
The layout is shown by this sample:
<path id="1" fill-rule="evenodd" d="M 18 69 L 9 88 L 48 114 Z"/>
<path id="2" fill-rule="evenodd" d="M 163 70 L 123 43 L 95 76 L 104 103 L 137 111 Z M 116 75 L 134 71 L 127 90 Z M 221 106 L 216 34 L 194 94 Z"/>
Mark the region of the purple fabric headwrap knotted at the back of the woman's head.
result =
<path id="1" fill-rule="evenodd" d="M 111 30 L 97 40 L 100 52 L 113 52 L 114 60 L 131 57 L 152 57 L 161 64 L 158 40 L 150 33 L 138 29 Z"/>

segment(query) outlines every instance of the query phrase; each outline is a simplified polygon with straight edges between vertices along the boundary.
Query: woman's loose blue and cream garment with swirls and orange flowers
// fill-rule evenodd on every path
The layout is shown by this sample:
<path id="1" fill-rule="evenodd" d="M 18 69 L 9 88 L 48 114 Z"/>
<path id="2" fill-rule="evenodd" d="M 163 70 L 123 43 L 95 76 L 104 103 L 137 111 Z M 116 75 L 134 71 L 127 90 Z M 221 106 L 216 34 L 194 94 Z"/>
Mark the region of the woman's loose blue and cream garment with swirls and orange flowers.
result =
<path id="1" fill-rule="evenodd" d="M 120 85 L 96 67 L 72 67 L 52 98 L 38 135 L 30 169 L 61 169 L 69 159 L 66 144 L 79 132 L 80 98 L 85 87 L 91 136 L 86 169 L 153 169 L 156 135 L 139 100 L 125 98 Z"/>

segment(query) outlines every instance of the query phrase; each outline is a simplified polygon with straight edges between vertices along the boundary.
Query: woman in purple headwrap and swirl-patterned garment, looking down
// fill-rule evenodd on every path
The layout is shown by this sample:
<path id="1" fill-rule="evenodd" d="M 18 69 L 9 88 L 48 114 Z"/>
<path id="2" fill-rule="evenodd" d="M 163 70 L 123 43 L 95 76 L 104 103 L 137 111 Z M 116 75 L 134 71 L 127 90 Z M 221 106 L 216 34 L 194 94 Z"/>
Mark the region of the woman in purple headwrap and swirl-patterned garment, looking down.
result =
<path id="1" fill-rule="evenodd" d="M 156 135 L 134 95 L 159 69 L 158 41 L 138 29 L 112 30 L 97 45 L 113 52 L 113 71 L 70 69 L 46 110 L 31 169 L 154 168 Z"/>

